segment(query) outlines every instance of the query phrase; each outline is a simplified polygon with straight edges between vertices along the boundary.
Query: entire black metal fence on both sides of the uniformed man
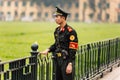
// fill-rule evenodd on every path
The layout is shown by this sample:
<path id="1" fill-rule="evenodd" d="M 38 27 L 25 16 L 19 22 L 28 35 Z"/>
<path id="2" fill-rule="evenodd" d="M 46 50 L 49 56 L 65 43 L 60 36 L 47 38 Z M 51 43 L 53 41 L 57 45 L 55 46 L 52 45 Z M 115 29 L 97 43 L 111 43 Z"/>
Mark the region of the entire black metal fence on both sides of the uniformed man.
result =
<path id="1" fill-rule="evenodd" d="M 32 45 L 30 57 L 0 63 L 0 80 L 54 80 L 52 55 L 38 54 Z M 120 38 L 79 46 L 76 54 L 75 80 L 103 76 L 107 69 L 120 66 Z"/>

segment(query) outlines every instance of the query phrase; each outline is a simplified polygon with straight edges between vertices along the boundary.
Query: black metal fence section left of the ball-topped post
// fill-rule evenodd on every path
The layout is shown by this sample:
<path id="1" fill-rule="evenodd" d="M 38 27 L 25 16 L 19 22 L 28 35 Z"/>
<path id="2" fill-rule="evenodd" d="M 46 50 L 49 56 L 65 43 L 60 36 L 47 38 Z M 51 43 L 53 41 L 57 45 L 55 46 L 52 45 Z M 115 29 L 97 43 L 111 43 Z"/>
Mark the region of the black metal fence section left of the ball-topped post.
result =
<path id="1" fill-rule="evenodd" d="M 37 80 L 36 56 L 0 63 L 0 80 Z"/>

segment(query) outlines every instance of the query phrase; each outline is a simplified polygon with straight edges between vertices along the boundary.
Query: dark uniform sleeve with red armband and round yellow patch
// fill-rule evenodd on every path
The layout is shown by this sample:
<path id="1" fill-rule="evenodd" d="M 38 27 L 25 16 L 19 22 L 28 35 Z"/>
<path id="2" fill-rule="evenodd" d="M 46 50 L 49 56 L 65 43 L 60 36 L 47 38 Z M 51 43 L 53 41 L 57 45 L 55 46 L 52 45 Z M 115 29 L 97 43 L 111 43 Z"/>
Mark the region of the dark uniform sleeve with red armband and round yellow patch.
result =
<path id="1" fill-rule="evenodd" d="M 76 31 L 70 32 L 69 35 L 69 62 L 75 60 L 75 54 L 78 49 L 78 37 Z"/>

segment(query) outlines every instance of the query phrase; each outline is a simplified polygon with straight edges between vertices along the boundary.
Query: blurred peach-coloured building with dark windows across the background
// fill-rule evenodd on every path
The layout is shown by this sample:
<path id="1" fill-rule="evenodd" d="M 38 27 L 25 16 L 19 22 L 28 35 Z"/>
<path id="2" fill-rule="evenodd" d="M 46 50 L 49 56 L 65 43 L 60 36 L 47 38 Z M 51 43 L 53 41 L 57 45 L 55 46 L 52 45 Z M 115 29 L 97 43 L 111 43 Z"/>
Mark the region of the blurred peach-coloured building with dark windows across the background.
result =
<path id="1" fill-rule="evenodd" d="M 120 0 L 78 0 L 62 6 L 69 21 L 120 22 Z M 31 0 L 0 0 L 0 20 L 53 21 L 55 8 Z"/>

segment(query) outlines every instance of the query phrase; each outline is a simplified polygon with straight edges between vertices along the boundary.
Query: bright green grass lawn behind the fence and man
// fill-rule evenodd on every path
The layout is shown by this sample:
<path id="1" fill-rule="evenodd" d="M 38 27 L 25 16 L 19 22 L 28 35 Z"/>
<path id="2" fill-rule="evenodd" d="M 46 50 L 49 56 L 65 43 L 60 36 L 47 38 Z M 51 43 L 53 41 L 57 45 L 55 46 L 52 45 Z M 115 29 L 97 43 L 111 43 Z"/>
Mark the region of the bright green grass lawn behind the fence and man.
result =
<path id="1" fill-rule="evenodd" d="M 68 22 L 78 34 L 79 45 L 120 36 L 120 24 Z M 31 45 L 39 51 L 54 43 L 54 22 L 0 22 L 0 58 L 3 61 L 30 55 Z"/>

